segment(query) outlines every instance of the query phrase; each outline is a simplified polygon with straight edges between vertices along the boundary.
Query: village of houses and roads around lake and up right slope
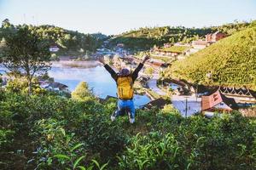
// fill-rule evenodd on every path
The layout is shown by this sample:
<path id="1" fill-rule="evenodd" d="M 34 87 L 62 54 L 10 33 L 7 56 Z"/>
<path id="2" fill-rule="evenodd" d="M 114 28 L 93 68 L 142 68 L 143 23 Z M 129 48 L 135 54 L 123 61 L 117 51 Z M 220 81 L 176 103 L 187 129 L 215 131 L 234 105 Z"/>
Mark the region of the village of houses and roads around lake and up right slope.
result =
<path id="1" fill-rule="evenodd" d="M 151 59 L 148 60 L 145 70 L 150 67 L 152 68 L 152 73 L 148 74 L 143 71 L 139 77 L 139 86 L 144 89 L 143 93 L 146 93 L 151 99 L 156 100 L 156 102 L 153 102 L 153 104 L 155 103 L 153 106 L 162 108 L 167 102 L 167 104 L 174 105 L 177 111 L 181 112 L 183 116 L 191 116 L 198 113 L 213 116 L 215 111 L 230 112 L 256 105 L 256 92 L 247 87 L 205 86 L 200 83 L 189 83 L 184 80 L 160 76 L 174 61 L 185 59 L 189 55 L 208 48 L 213 43 L 225 37 L 228 36 L 220 31 L 216 31 L 208 33 L 204 39 L 195 40 L 190 43 L 165 43 L 162 47 L 155 46 L 154 48 L 150 48 L 147 53 L 150 54 Z M 106 48 L 107 46 L 108 41 L 105 41 L 102 48 L 97 49 L 95 56 L 96 58 L 104 56 L 106 59 L 110 59 L 110 64 L 117 70 L 125 65 L 128 65 L 131 70 L 134 69 L 144 54 L 142 52 L 138 55 L 129 54 L 129 51 L 125 49 L 125 43 L 117 43 L 116 47 L 112 50 Z M 59 48 L 57 46 L 51 46 L 49 50 L 51 52 L 57 52 Z M 59 59 L 66 61 L 76 58 L 62 56 Z M 206 77 L 211 78 L 211 74 L 207 74 Z M 6 83 L 7 78 L 3 77 L 3 86 Z M 41 88 L 50 91 L 60 94 L 71 94 L 67 85 L 60 82 L 39 79 L 39 84 Z M 151 86 L 148 86 L 148 84 Z M 169 98 L 171 101 L 157 102 L 162 98 Z"/>

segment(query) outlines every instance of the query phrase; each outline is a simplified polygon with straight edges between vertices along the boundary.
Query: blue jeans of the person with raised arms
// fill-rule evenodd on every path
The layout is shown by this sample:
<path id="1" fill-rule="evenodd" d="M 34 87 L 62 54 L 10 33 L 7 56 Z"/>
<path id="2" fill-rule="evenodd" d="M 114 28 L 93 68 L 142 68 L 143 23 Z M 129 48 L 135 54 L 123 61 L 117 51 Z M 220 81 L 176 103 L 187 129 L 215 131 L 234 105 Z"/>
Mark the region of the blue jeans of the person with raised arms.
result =
<path id="1" fill-rule="evenodd" d="M 134 107 L 133 99 L 129 99 L 129 100 L 119 99 L 118 111 L 116 113 L 116 116 L 125 115 L 125 109 L 131 113 L 131 118 L 135 117 L 135 107 Z"/>

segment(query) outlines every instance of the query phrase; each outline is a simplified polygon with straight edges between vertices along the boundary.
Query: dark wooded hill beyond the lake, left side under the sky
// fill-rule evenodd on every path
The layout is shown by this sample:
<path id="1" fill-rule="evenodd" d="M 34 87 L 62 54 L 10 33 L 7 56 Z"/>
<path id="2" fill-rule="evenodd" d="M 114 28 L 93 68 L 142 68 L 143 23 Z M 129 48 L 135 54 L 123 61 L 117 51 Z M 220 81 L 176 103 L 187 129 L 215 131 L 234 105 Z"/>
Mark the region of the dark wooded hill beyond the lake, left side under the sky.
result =
<path id="1" fill-rule="evenodd" d="M 3 25 L 0 28 L 0 42 L 6 30 L 19 27 L 13 26 L 8 19 L 3 20 Z M 94 52 L 102 44 L 102 37 L 106 37 L 101 33 L 90 35 L 79 31 L 69 31 L 58 26 L 30 25 L 29 28 L 32 31 L 37 31 L 38 35 L 49 44 L 57 45 L 60 48 L 60 51 L 57 52 L 59 55 L 84 55 L 87 52 Z"/>

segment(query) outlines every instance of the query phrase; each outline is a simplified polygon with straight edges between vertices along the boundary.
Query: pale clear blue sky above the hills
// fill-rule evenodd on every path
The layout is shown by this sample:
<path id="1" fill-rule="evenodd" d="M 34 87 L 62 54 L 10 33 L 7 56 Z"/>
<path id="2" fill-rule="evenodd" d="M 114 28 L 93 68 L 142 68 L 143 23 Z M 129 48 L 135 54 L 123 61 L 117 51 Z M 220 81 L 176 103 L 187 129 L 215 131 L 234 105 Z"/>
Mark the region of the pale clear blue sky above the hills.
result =
<path id="1" fill-rule="evenodd" d="M 0 20 L 119 34 L 145 26 L 220 26 L 256 20 L 256 0 L 0 0 Z"/>

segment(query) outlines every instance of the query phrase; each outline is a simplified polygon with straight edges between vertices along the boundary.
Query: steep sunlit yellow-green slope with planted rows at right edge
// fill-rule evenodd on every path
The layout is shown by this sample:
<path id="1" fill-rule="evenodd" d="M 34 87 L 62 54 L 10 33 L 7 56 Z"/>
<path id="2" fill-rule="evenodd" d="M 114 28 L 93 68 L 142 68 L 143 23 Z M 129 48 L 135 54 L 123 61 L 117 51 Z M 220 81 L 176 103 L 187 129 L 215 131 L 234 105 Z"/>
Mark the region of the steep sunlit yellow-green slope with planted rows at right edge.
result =
<path id="1" fill-rule="evenodd" d="M 166 71 L 166 77 L 256 89 L 256 26 L 252 24 L 246 30 L 174 62 Z"/>

